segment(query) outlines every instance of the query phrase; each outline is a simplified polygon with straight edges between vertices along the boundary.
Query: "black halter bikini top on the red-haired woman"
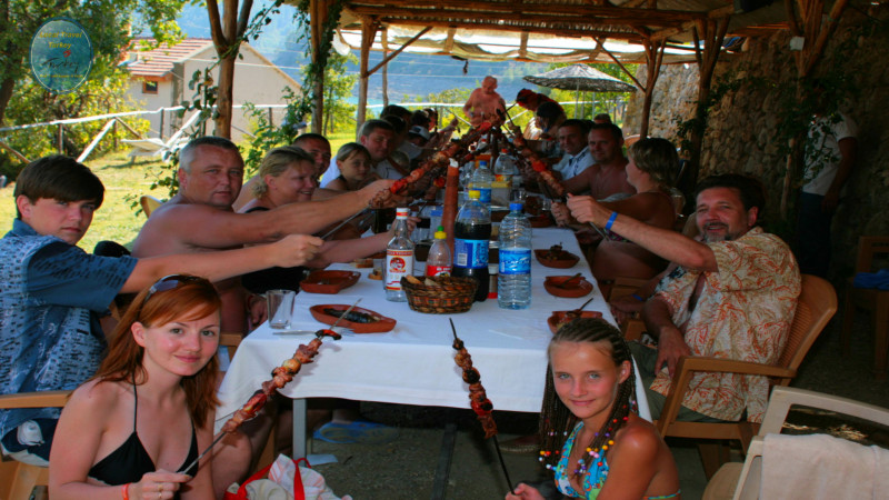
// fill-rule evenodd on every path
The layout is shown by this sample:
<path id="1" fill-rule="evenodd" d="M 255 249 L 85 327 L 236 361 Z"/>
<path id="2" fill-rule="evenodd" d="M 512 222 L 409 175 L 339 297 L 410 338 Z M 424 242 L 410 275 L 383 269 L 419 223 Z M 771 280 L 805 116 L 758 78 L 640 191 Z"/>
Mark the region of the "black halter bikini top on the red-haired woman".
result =
<path id="1" fill-rule="evenodd" d="M 139 434 L 136 432 L 136 416 L 139 412 L 139 397 L 136 392 L 136 383 L 132 386 L 132 393 L 133 400 L 136 401 L 132 412 L 132 433 L 117 450 L 108 453 L 106 458 L 92 466 L 89 472 L 90 478 L 98 479 L 109 486 L 139 482 L 147 472 L 154 472 L 158 470 L 158 468 L 154 467 L 154 461 L 151 460 L 148 451 L 146 451 L 146 448 L 142 446 L 142 441 L 139 440 Z M 197 458 L 198 434 L 194 432 L 194 423 L 192 423 L 191 447 L 188 450 L 186 461 L 179 467 L 180 470 L 178 472 L 184 474 L 191 473 L 193 476 L 197 472 L 196 467 L 192 466 L 189 470 L 181 469 L 188 467 L 188 464 L 193 462 Z"/>

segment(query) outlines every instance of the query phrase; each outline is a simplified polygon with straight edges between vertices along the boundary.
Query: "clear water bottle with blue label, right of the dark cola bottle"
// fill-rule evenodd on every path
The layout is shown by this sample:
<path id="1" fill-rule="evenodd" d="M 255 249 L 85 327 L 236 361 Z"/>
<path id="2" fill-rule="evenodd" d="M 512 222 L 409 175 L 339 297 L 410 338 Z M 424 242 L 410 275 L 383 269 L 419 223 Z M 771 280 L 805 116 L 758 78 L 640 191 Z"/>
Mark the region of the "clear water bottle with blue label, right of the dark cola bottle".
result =
<path id="1" fill-rule="evenodd" d="M 500 222 L 497 304 L 502 309 L 531 306 L 531 222 L 521 208 L 521 203 L 509 203 L 509 214 Z"/>

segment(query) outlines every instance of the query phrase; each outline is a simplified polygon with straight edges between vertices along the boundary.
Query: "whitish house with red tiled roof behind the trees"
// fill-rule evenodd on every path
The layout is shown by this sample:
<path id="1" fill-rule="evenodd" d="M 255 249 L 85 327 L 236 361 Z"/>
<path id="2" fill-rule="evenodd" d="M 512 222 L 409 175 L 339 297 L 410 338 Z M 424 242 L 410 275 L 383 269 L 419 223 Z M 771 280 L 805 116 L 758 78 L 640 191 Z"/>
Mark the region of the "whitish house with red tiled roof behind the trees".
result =
<path id="1" fill-rule="evenodd" d="M 193 101 L 194 90 L 189 88 L 189 82 L 196 71 L 203 72 L 204 68 L 217 61 L 213 41 L 206 38 L 189 38 L 168 47 L 166 43 L 153 50 L 139 50 L 140 42 L 133 42 L 133 49 L 128 53 L 126 68 L 130 72 L 129 94 L 134 102 L 142 104 L 144 110 L 172 108 L 182 101 Z M 251 102 L 260 104 L 283 104 L 284 91 L 289 87 L 297 94 L 300 84 L 290 78 L 280 68 L 266 59 L 248 43 L 241 44 L 240 53 L 243 58 L 234 64 L 234 89 L 232 100 L 236 106 Z M 219 82 L 219 68 L 213 70 L 213 81 Z M 193 111 L 190 111 L 191 113 Z M 189 114 L 186 116 L 186 119 Z M 283 117 L 282 109 L 272 111 L 272 122 L 280 124 Z M 181 127 L 183 119 L 177 112 L 146 114 L 151 122 L 149 137 L 167 139 Z M 208 133 L 212 132 L 212 124 L 208 124 Z M 232 117 L 232 140 L 242 139 L 242 132 L 250 131 L 249 113 L 236 108 Z"/>

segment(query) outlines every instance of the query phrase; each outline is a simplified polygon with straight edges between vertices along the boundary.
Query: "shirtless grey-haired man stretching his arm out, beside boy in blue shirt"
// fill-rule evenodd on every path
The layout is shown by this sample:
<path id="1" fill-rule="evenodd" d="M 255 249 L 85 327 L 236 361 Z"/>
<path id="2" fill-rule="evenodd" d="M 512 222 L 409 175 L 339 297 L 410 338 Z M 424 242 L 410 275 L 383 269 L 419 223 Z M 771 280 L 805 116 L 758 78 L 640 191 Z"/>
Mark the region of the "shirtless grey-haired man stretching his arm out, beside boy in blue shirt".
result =
<path id="1" fill-rule="evenodd" d="M 256 213 L 231 209 L 243 179 L 243 160 L 228 139 L 202 137 L 179 156 L 179 193 L 151 213 L 133 242 L 133 257 L 196 253 L 311 234 L 364 209 L 373 194 L 391 186 L 377 181 L 334 199 L 293 203 Z M 263 320 L 264 303 L 249 296 L 240 278 L 217 283 L 222 298 L 222 330 L 247 332 Z"/>

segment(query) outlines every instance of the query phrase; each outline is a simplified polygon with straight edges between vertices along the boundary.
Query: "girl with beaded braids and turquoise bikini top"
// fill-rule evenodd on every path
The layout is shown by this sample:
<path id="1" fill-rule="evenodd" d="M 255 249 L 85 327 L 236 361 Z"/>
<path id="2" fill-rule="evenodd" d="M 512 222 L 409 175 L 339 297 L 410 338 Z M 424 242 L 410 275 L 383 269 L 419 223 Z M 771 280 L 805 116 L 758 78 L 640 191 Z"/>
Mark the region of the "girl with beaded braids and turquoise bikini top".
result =
<path id="1" fill-rule="evenodd" d="M 636 413 L 632 358 L 620 331 L 598 318 L 553 336 L 540 414 L 540 461 L 567 498 L 680 498 L 672 454 Z M 537 500 L 520 483 L 507 500 Z"/>

